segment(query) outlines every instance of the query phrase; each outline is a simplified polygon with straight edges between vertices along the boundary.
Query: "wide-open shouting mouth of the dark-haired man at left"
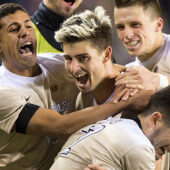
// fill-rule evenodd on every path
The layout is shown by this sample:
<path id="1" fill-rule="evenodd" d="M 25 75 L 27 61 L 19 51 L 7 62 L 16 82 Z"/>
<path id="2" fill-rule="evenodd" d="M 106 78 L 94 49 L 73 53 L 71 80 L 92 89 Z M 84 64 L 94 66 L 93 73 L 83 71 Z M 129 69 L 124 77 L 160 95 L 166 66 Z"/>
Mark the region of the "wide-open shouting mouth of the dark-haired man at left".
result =
<path id="1" fill-rule="evenodd" d="M 31 41 L 27 41 L 25 43 L 23 43 L 20 47 L 19 47 L 19 53 L 22 56 L 30 56 L 34 53 L 34 46 L 33 43 Z"/>

